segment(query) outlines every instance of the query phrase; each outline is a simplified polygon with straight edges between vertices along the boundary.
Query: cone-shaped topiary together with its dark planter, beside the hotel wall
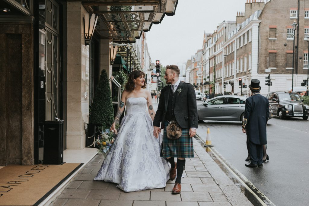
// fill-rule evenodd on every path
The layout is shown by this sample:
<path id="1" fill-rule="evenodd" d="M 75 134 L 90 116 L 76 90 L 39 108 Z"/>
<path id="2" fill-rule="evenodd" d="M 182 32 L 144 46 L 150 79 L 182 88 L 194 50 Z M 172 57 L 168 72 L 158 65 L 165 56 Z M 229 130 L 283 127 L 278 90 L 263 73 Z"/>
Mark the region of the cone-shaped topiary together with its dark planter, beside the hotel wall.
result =
<path id="1" fill-rule="evenodd" d="M 95 147 L 95 140 L 102 134 L 102 130 L 110 127 L 114 120 L 111 88 L 106 71 L 101 72 L 96 86 L 93 102 L 89 108 L 89 123 L 87 124 L 86 147 Z"/>

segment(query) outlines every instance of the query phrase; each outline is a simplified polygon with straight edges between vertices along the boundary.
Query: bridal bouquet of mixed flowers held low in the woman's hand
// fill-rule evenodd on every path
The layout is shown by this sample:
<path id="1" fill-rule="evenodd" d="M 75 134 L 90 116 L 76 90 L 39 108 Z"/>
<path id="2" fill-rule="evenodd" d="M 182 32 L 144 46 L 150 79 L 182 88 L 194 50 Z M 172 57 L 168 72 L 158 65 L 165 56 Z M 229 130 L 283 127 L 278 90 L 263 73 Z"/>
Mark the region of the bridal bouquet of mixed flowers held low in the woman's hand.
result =
<path id="1" fill-rule="evenodd" d="M 116 125 L 116 129 L 119 128 L 119 125 Z M 99 147 L 98 153 L 107 154 L 111 149 L 112 144 L 115 141 L 116 134 L 109 129 L 102 129 L 101 134 L 98 135 L 98 138 L 95 141 L 95 145 Z"/>

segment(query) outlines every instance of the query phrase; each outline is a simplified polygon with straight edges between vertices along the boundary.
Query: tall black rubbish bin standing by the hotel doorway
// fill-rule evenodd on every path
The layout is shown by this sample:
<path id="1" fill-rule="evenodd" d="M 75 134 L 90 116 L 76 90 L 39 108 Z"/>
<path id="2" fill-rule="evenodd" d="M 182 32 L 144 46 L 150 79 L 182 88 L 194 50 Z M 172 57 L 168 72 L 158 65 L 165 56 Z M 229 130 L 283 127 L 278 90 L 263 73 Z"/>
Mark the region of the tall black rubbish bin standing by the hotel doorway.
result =
<path id="1" fill-rule="evenodd" d="M 44 164 L 63 164 L 63 120 L 44 121 Z"/>

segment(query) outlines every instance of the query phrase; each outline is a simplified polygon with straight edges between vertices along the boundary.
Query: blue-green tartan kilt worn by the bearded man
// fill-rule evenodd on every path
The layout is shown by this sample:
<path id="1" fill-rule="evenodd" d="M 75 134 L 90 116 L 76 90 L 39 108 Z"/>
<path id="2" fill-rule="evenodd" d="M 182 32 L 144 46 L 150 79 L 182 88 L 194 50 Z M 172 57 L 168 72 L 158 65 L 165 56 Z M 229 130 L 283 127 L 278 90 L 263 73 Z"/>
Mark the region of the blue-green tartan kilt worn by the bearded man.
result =
<path id="1" fill-rule="evenodd" d="M 166 127 L 168 121 L 164 121 L 164 131 L 163 131 L 163 155 L 161 157 L 173 157 L 173 158 L 193 158 L 193 140 L 189 135 L 189 128 L 182 128 L 182 135 L 176 139 L 171 140 L 167 138 Z"/>

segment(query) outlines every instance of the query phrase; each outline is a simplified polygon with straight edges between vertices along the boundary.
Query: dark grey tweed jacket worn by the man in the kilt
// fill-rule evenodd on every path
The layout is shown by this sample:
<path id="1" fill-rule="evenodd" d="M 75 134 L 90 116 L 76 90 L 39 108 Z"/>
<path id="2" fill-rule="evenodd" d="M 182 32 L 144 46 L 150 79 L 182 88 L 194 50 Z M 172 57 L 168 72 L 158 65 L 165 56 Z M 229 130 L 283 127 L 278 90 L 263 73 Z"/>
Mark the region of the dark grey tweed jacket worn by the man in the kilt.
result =
<path id="1" fill-rule="evenodd" d="M 153 125 L 164 128 L 164 120 L 167 114 L 169 93 L 171 85 L 165 86 L 161 90 L 158 110 L 155 114 Z M 181 128 L 198 128 L 198 116 L 195 91 L 192 84 L 180 82 L 175 91 L 174 116 Z M 169 108 L 172 109 L 172 108 Z"/>

